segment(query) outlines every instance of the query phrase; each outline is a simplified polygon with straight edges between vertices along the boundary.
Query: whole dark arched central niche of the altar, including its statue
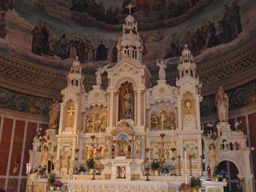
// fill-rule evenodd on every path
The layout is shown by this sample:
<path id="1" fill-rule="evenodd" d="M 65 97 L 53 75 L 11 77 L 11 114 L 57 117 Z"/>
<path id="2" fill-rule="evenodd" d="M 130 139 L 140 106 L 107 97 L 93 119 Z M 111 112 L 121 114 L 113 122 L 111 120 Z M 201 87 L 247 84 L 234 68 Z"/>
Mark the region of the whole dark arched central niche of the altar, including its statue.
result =
<path id="1" fill-rule="evenodd" d="M 121 119 L 134 120 L 134 90 L 128 82 L 119 88 L 119 120 Z"/>

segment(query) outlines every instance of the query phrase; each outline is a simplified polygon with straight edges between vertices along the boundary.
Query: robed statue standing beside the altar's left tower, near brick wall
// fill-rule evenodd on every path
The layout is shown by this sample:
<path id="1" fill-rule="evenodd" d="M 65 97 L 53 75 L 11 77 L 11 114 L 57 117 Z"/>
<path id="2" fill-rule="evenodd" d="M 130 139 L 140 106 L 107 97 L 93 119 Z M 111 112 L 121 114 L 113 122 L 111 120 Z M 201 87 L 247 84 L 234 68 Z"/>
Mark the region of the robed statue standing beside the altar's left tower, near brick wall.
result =
<path id="1" fill-rule="evenodd" d="M 49 111 L 49 126 L 48 128 L 58 128 L 59 127 L 59 116 L 60 116 L 60 105 L 58 99 L 55 97 L 53 98 L 52 106 L 50 107 L 51 110 Z"/>

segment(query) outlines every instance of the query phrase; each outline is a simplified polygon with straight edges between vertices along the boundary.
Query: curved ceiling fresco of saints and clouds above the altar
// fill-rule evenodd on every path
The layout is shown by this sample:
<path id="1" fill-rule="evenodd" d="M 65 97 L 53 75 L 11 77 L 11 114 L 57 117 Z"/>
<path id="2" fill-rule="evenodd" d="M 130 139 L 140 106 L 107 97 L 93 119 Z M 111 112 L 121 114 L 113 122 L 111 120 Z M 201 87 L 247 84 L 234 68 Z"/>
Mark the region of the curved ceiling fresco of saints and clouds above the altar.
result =
<path id="1" fill-rule="evenodd" d="M 159 70 L 157 59 L 170 58 L 167 71 L 176 70 L 184 44 L 204 64 L 256 35 L 253 0 L 4 0 L 0 50 L 60 70 L 69 70 L 76 56 L 85 74 L 111 68 L 129 3 L 151 73 Z"/>

